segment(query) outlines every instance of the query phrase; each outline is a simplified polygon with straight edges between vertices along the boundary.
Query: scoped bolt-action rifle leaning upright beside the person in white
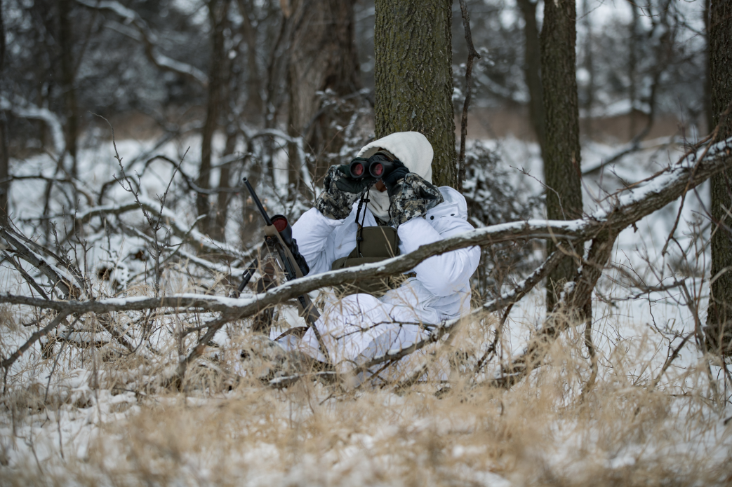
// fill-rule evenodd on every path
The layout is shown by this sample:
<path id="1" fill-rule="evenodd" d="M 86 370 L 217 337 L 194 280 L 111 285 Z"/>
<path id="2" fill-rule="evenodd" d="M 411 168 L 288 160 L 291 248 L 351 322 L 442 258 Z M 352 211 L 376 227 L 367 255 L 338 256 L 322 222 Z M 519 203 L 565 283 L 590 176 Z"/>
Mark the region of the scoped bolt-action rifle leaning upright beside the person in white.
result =
<path id="1" fill-rule="evenodd" d="M 285 272 L 285 277 L 288 281 L 298 279 L 300 277 L 307 276 L 310 272 L 310 268 L 307 265 L 305 257 L 302 257 L 299 250 L 297 249 L 297 241 L 292 238 L 292 227 L 287 218 L 283 215 L 272 216 L 269 218 L 264 206 L 254 192 L 254 188 L 247 181 L 247 178 L 243 179 L 244 186 L 247 186 L 247 190 L 252 197 L 255 205 L 259 209 L 259 213 L 264 218 L 264 244 L 266 251 L 269 252 L 272 257 L 275 258 L 275 262 L 280 265 L 280 268 Z M 244 287 L 249 283 L 250 279 L 254 275 L 255 271 L 259 267 L 259 259 L 253 260 L 253 262 L 247 266 L 247 270 L 242 274 L 242 284 L 239 284 L 239 294 L 244 290 Z M 307 294 L 302 294 L 297 297 L 297 308 L 299 315 L 305 318 L 305 322 L 310 328 L 313 328 L 315 333 L 315 339 L 318 340 L 318 346 L 321 348 L 321 352 L 325 355 L 326 360 L 330 361 L 328 350 L 323 343 L 318 327 L 315 326 L 315 321 L 320 317 L 318 309 L 315 308 L 313 301 L 310 301 L 310 297 Z"/>

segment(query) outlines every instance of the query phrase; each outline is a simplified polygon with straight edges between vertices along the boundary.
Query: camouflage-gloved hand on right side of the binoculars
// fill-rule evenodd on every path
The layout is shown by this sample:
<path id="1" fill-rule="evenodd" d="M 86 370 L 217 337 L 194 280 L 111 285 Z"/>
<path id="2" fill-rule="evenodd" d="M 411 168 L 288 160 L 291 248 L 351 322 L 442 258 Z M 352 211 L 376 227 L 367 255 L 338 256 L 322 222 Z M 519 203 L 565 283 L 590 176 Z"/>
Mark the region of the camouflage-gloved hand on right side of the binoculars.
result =
<path id="1" fill-rule="evenodd" d="M 391 202 L 389 217 L 391 224 L 395 227 L 426 214 L 428 210 L 444 201 L 442 193 L 434 184 L 414 173 L 408 173 L 393 183 L 393 189 L 389 187 L 389 184 L 392 184 L 391 181 L 389 184 L 385 180 L 382 181 L 389 191 Z"/>

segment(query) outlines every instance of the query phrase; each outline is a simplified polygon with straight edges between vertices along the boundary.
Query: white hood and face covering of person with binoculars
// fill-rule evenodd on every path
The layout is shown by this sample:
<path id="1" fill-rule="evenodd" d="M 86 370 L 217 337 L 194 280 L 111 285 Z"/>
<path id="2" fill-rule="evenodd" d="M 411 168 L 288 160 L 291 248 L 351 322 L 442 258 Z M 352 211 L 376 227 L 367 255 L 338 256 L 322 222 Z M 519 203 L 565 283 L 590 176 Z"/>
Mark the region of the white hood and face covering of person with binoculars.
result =
<path id="1" fill-rule="evenodd" d="M 359 151 L 359 157 L 369 158 L 385 148 L 406 165 L 410 173 L 419 174 L 426 181 L 432 182 L 432 157 L 435 154 L 427 137 L 419 132 L 395 132 L 366 144 Z M 389 220 L 389 195 L 372 187 L 368 197 L 368 208 L 382 220 Z"/>

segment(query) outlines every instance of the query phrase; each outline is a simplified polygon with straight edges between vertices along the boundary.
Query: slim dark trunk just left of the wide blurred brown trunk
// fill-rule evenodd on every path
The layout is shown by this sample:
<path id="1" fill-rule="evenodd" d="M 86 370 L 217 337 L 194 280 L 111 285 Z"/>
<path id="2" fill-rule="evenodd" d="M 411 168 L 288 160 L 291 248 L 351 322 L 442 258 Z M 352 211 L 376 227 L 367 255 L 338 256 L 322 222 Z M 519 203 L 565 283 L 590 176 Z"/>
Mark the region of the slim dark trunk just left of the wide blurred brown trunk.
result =
<path id="1" fill-rule="evenodd" d="M 209 0 L 209 20 L 211 22 L 212 52 L 211 67 L 209 68 L 209 93 L 206 105 L 206 121 L 203 124 L 201 136 L 201 167 L 198 170 L 198 179 L 195 184 L 201 188 L 211 187 L 211 154 L 214 131 L 218 127 L 221 111 L 221 88 L 223 86 L 223 71 L 226 64 L 224 55 L 224 23 L 228 10 L 229 0 Z M 201 232 L 208 233 L 211 227 L 209 195 L 198 193 L 196 209 L 199 215 L 206 215 L 201 219 Z"/>

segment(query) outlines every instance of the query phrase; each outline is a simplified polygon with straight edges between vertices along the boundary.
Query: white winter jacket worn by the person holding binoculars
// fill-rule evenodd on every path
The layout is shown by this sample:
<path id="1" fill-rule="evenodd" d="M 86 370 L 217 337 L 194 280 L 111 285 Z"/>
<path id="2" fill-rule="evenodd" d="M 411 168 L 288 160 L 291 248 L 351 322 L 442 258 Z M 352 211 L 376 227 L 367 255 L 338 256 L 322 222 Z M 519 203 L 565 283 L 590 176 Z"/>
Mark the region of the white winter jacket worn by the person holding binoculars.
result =
<path id="1" fill-rule="evenodd" d="M 400 254 L 419 246 L 473 230 L 467 222 L 468 211 L 463 195 L 449 186 L 441 186 L 444 203 L 401 224 L 397 229 Z M 292 227 L 300 253 L 310 266 L 308 275 L 331 270 L 332 263 L 346 257 L 356 246 L 356 208 L 348 218 L 332 220 L 315 208 L 306 211 Z M 365 226 L 376 226 L 371 211 L 366 212 Z M 407 279 L 379 301 L 410 306 L 423 323 L 437 324 L 459 317 L 470 309 L 470 276 L 480 260 L 478 247 L 459 249 L 430 257 L 414 268 L 416 278 Z"/>

